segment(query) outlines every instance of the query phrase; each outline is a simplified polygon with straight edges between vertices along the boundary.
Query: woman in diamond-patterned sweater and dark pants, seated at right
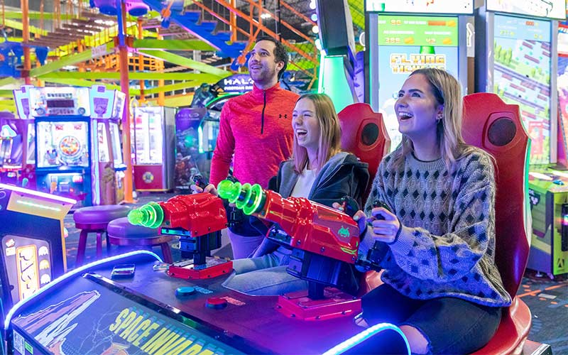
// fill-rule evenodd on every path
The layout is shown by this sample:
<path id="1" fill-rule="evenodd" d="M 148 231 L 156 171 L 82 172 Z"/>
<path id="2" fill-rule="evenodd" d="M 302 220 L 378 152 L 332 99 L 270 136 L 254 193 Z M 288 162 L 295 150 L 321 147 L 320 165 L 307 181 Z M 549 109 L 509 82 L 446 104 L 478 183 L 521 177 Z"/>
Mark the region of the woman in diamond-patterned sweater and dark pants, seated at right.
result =
<path id="1" fill-rule="evenodd" d="M 358 322 L 398 324 L 413 354 L 480 349 L 511 302 L 494 260 L 493 163 L 461 138 L 460 91 L 443 70 L 408 77 L 395 103 L 403 141 L 381 162 L 366 213 L 354 216 L 359 258 L 378 241 L 384 282 L 363 297 Z M 371 339 L 359 351 L 393 351 L 386 344 Z"/>

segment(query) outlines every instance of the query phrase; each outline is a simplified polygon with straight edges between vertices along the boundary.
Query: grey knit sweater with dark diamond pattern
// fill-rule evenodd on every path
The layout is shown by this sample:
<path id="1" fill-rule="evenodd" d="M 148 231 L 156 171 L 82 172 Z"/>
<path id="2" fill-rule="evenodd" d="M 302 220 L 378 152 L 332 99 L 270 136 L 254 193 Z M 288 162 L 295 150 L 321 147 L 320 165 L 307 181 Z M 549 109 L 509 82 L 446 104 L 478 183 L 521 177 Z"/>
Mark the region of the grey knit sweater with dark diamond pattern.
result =
<path id="1" fill-rule="evenodd" d="M 443 159 L 423 162 L 412 154 L 395 168 L 394 154 L 381 162 L 365 205 L 369 216 L 373 201 L 385 202 L 401 224 L 394 243 L 380 243 L 383 282 L 411 298 L 510 305 L 494 262 L 495 178 L 488 155 L 466 155 L 450 172 Z M 359 258 L 373 244 L 364 238 Z"/>

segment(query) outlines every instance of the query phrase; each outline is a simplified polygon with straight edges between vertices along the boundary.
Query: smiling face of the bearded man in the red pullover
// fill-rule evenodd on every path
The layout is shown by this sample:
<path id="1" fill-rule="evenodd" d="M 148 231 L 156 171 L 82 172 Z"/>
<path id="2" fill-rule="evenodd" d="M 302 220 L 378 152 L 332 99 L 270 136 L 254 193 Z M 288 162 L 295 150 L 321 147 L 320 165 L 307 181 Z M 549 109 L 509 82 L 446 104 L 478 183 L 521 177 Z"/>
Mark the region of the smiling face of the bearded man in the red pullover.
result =
<path id="1" fill-rule="evenodd" d="M 270 40 L 259 40 L 251 50 L 249 72 L 257 87 L 268 89 L 278 82 L 278 72 L 284 62 L 276 62 L 274 49 L 276 45 Z"/>

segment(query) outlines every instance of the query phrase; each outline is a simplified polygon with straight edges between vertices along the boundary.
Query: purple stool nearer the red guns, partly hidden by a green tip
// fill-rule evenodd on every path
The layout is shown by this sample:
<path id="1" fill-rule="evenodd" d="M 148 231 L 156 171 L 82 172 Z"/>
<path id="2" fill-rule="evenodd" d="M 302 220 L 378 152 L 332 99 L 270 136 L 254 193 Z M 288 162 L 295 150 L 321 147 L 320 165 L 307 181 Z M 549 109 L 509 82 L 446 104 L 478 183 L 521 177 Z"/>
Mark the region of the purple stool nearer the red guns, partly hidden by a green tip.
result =
<path id="1" fill-rule="evenodd" d="M 134 226 L 129 219 L 122 217 L 114 219 L 107 227 L 107 235 L 110 244 L 117 246 L 160 246 L 165 263 L 173 263 L 172 251 L 168 244 L 173 240 L 173 236 L 158 234 L 158 229 L 147 228 L 145 226 Z"/>

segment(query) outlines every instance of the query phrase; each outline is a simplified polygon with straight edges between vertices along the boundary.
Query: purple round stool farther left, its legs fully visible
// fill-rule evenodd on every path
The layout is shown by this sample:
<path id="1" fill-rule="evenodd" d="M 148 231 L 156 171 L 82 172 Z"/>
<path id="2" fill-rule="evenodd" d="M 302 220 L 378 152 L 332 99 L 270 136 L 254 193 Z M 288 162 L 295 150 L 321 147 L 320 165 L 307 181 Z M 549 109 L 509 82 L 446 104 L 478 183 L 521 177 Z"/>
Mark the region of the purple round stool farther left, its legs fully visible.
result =
<path id="1" fill-rule="evenodd" d="M 75 228 L 81 229 L 79 247 L 77 248 L 77 261 L 75 266 L 81 266 L 84 258 L 84 249 L 87 246 L 89 233 L 97 233 L 97 258 L 102 257 L 102 234 L 107 232 L 107 224 L 113 219 L 125 217 L 130 208 L 119 204 L 104 206 L 83 207 L 73 214 Z M 110 251 L 109 235 L 107 234 L 107 253 Z"/>

